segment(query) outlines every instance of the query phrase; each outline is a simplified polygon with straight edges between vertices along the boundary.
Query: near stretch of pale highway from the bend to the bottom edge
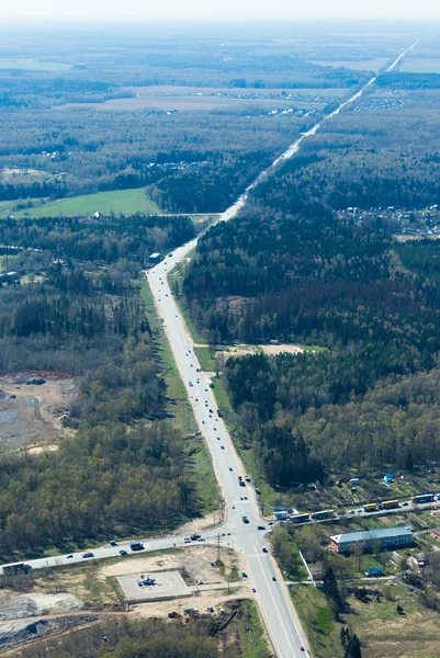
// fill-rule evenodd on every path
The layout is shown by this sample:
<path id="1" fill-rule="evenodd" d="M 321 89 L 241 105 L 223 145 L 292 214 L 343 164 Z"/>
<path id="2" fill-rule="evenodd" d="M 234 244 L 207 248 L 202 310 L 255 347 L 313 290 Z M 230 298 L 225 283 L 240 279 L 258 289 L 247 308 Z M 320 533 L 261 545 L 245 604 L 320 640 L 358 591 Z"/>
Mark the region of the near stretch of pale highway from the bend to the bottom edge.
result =
<path id="1" fill-rule="evenodd" d="M 232 208 L 229 212 L 233 212 Z M 289 590 L 270 555 L 269 546 L 266 545 L 264 532 L 258 530 L 258 525 L 264 525 L 264 522 L 260 517 L 255 489 L 249 484 L 239 484 L 238 476 L 246 475 L 244 466 L 223 419 L 216 413 L 217 406 L 207 383 L 208 375 L 201 372 L 192 339 L 167 280 L 170 269 L 180 262 L 191 248 L 192 245 L 177 250 L 150 270 L 149 285 L 195 419 L 212 455 L 228 513 L 227 531 L 234 535 L 234 548 L 241 551 L 246 556 L 249 581 L 257 590 L 257 599 L 277 656 L 304 656 L 301 647 L 306 646 L 306 638 L 296 619 Z M 242 515 L 248 518 L 249 523 L 242 522 Z"/>

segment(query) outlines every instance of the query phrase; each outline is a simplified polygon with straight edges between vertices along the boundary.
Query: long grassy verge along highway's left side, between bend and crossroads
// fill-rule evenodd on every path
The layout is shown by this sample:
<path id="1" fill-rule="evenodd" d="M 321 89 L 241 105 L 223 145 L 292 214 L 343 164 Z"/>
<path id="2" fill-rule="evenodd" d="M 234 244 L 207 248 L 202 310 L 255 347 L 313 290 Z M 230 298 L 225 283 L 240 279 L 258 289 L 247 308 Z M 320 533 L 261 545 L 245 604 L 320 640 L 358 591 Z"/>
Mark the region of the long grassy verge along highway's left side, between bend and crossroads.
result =
<path id="1" fill-rule="evenodd" d="M 198 496 L 205 512 L 217 509 L 221 495 L 208 450 L 201 436 L 195 433 L 199 428 L 188 400 L 187 389 L 177 368 L 171 348 L 157 314 L 148 282 L 142 287 L 142 297 L 148 322 L 155 334 L 155 344 L 163 379 L 169 397 L 168 412 L 171 424 L 187 438 L 187 449 L 192 472 L 195 475 Z"/>

